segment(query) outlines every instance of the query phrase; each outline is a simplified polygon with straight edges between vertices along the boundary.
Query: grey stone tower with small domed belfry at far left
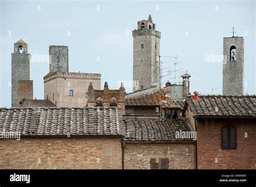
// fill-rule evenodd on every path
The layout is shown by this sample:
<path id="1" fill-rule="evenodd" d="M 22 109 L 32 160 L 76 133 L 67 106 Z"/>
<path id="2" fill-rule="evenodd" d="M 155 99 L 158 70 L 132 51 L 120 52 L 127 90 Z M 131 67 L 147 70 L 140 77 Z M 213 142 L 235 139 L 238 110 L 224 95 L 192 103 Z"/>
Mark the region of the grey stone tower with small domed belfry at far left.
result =
<path id="1" fill-rule="evenodd" d="M 11 54 L 11 106 L 17 107 L 17 82 L 30 80 L 30 54 L 28 44 L 22 39 L 14 44 L 14 53 Z"/>

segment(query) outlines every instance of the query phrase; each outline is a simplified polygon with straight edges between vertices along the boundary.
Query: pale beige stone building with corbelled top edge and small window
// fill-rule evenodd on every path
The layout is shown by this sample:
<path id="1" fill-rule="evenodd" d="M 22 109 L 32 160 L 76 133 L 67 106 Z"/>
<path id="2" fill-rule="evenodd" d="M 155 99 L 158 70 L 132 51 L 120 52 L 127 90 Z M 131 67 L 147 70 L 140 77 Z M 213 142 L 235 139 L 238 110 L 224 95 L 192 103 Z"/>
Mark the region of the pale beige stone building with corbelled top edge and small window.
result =
<path id="1" fill-rule="evenodd" d="M 84 107 L 90 82 L 100 89 L 101 74 L 50 72 L 44 76 L 44 99 L 57 107 Z"/>

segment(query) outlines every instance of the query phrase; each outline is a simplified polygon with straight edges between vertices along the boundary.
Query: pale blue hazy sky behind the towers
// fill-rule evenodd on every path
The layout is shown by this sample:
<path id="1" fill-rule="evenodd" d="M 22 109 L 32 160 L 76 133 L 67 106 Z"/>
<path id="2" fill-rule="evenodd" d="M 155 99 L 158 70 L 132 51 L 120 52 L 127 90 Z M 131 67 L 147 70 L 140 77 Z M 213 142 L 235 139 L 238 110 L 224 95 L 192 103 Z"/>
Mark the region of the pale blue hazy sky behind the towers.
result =
<path id="1" fill-rule="evenodd" d="M 29 45 L 33 97 L 43 99 L 50 45 L 69 46 L 70 72 L 100 73 L 102 87 L 132 81 L 133 38 L 137 21 L 151 13 L 161 32 L 160 55 L 178 55 L 177 69 L 191 73 L 191 92 L 222 93 L 223 37 L 244 37 L 245 92 L 255 92 L 255 1 L 1 1 L 1 100 L 11 106 L 11 53 L 22 38 Z M 38 56 L 39 55 L 39 56 Z M 41 59 L 38 59 L 41 57 Z M 210 62 L 207 58 L 212 59 Z M 174 69 L 172 58 L 163 68 Z M 166 70 L 169 70 L 166 69 Z M 176 76 L 184 71 L 177 71 Z M 173 75 L 163 81 L 174 82 Z M 180 78 L 177 78 L 177 82 Z M 216 89 L 215 89 L 216 88 Z M 126 84 L 126 92 L 131 85 Z"/>

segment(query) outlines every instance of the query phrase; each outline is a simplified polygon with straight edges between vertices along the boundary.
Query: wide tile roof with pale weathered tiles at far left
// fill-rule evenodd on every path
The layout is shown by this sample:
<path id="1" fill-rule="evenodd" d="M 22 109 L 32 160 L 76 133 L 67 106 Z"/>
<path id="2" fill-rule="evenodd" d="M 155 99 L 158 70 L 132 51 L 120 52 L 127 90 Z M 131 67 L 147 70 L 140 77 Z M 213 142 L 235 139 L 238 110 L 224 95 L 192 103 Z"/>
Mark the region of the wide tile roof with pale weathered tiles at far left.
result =
<path id="1" fill-rule="evenodd" d="M 122 135 L 122 109 L 2 108 L 0 132 L 21 135 Z"/>

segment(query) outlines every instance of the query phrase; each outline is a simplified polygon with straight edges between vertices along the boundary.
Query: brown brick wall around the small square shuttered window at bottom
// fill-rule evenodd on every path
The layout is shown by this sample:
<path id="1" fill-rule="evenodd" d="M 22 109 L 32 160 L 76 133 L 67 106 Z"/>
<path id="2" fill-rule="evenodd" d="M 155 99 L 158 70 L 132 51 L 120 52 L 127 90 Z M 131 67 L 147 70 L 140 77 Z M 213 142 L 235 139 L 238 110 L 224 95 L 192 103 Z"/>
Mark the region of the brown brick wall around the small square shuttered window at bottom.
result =
<path id="1" fill-rule="evenodd" d="M 194 143 L 125 143 L 124 169 L 150 169 L 151 158 L 169 158 L 169 169 L 196 169 Z"/>

